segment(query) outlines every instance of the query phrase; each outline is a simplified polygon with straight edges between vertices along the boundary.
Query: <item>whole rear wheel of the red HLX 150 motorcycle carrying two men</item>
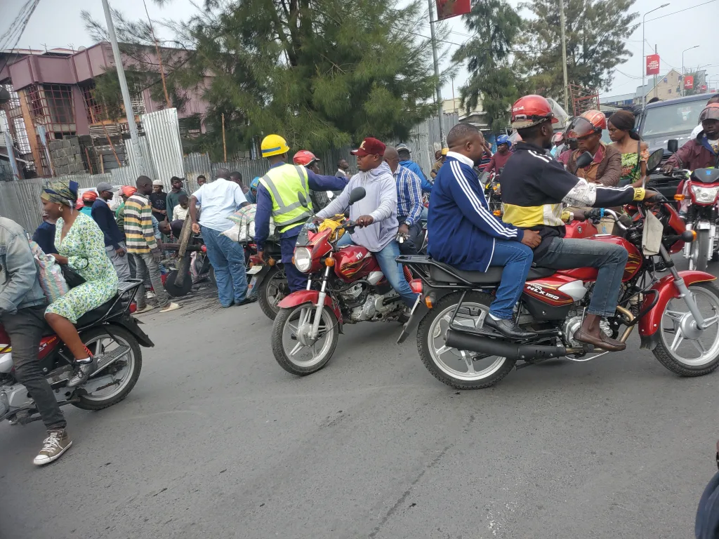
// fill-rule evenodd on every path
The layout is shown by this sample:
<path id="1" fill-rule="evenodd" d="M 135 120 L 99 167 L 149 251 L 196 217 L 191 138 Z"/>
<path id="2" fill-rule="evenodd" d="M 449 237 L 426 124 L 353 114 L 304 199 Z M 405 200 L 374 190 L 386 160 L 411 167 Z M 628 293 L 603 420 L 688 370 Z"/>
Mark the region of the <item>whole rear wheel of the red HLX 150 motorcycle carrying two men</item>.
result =
<path id="1" fill-rule="evenodd" d="M 425 315 L 417 328 L 417 348 L 424 366 L 440 382 L 457 390 L 480 390 L 507 376 L 516 359 L 483 356 L 446 346 L 444 340 L 449 321 L 461 298 L 460 292 L 446 295 Z M 468 292 L 454 323 L 474 328 L 480 311 L 487 315 L 492 300 L 491 295 Z"/>

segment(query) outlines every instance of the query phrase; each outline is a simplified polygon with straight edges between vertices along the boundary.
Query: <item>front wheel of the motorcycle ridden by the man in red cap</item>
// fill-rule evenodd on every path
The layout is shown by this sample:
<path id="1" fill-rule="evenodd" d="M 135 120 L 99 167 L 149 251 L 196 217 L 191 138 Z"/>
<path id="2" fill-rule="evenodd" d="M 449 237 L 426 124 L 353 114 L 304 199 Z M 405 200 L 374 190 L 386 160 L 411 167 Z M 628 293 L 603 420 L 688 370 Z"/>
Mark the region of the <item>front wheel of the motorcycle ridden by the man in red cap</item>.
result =
<path id="1" fill-rule="evenodd" d="M 319 336 L 308 344 L 307 335 L 317 315 L 316 305 L 303 303 L 280 309 L 272 330 L 272 351 L 280 367 L 297 376 L 319 371 L 334 354 L 339 338 L 337 319 L 326 306 L 322 309 Z M 304 342 L 303 342 L 304 341 Z"/>

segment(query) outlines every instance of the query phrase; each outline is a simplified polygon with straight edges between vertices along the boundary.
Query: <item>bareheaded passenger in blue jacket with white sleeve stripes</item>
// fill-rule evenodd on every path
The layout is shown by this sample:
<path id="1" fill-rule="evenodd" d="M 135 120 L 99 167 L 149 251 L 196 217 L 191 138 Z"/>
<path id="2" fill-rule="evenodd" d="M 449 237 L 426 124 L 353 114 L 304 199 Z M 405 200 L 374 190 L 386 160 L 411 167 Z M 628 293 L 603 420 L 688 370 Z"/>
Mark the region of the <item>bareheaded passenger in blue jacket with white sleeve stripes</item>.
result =
<path id="1" fill-rule="evenodd" d="M 503 266 L 485 325 L 510 338 L 527 338 L 533 333 L 519 328 L 512 314 L 532 264 L 531 248 L 539 245 L 540 236 L 503 223 L 489 210 L 474 169 L 485 152 L 475 126 L 454 126 L 447 146 L 446 161 L 434 178 L 427 250 L 458 270 L 486 272 Z"/>

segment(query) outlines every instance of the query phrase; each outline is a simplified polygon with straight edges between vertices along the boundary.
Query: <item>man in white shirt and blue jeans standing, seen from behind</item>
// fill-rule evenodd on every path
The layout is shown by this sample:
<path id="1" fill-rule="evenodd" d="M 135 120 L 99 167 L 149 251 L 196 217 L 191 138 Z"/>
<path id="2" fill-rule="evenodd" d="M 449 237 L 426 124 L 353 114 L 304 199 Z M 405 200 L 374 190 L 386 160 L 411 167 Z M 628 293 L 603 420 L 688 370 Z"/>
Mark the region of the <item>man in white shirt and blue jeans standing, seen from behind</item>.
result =
<path id="1" fill-rule="evenodd" d="M 247 205 L 242 188 L 238 183 L 230 181 L 229 177 L 229 170 L 221 168 L 217 171 L 214 182 L 206 183 L 190 198 L 192 231 L 195 234 L 202 231 L 207 256 L 215 270 L 217 295 L 223 308 L 255 301 L 255 298 L 247 298 L 247 274 L 242 245 L 222 234 L 234 226 L 228 217 Z M 199 221 L 198 204 L 202 206 Z"/>

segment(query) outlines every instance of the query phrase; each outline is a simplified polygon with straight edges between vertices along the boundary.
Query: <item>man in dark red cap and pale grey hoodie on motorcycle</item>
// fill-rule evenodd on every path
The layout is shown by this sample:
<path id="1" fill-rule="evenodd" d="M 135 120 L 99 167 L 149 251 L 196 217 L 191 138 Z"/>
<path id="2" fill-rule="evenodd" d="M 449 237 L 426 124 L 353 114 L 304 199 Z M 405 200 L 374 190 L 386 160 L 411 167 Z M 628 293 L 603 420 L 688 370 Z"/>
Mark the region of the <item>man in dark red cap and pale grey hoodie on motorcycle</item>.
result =
<path id="1" fill-rule="evenodd" d="M 349 206 L 349 193 L 356 187 L 365 188 L 366 195 L 361 201 L 349 206 L 349 218 L 357 223 L 354 234 L 345 234 L 337 242 L 342 245 L 357 244 L 375 254 L 390 286 L 401 296 L 408 307 L 412 307 L 417 295 L 412 292 L 404 278 L 400 265 L 395 258 L 400 248 L 395 240 L 399 224 L 397 222 L 397 188 L 389 165 L 384 162 L 385 144 L 368 137 L 358 149 L 352 151 L 357 156 L 359 172 L 352 176 L 342 194 L 329 206 L 317 213 L 324 219 L 344 212 Z"/>

